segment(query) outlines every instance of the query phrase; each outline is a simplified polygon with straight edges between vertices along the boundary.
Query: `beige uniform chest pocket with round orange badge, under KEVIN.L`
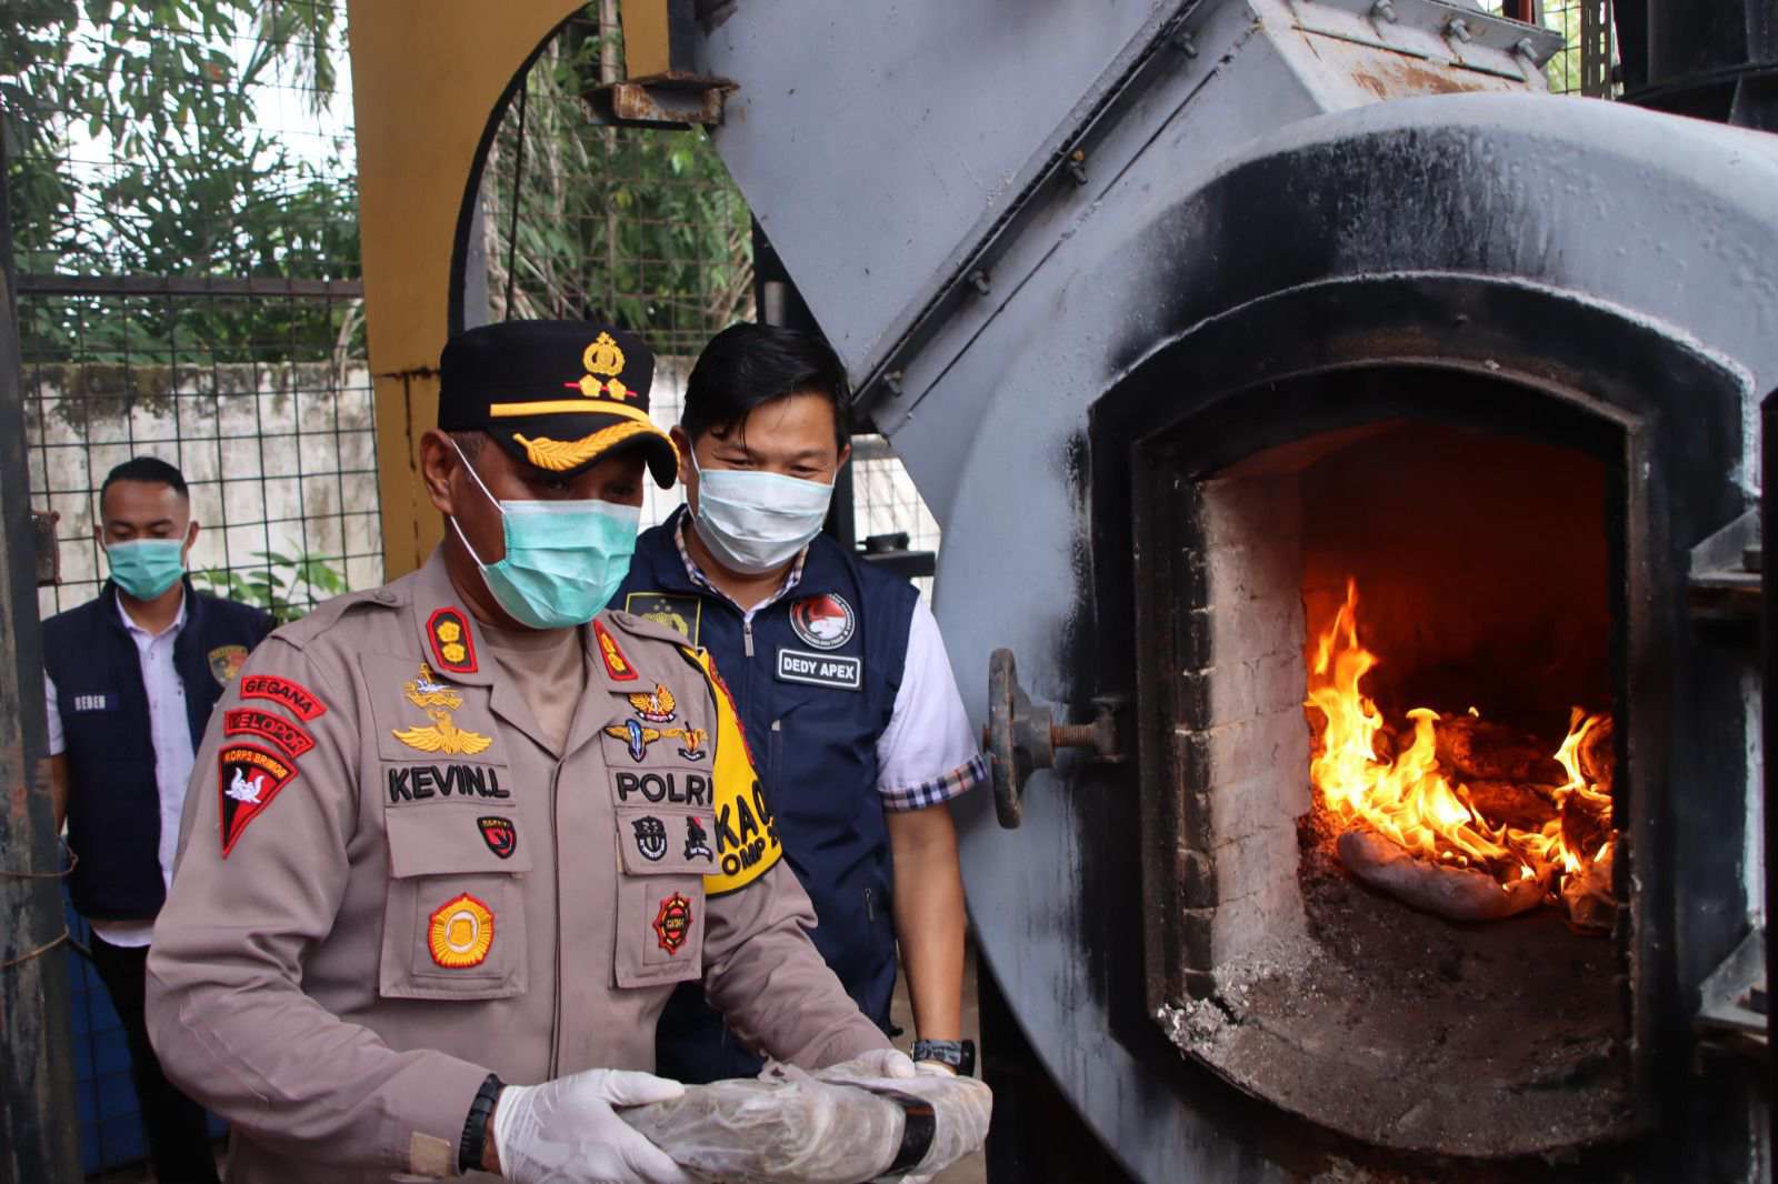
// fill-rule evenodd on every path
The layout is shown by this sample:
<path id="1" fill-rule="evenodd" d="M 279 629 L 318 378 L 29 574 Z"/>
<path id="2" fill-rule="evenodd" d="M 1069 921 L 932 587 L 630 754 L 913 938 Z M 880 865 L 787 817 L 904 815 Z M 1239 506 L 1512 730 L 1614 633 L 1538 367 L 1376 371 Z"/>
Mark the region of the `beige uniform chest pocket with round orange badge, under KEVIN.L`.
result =
<path id="1" fill-rule="evenodd" d="M 510 809 L 437 802 L 384 812 L 389 892 L 379 992 L 386 999 L 509 999 L 526 988 L 532 857 Z"/>

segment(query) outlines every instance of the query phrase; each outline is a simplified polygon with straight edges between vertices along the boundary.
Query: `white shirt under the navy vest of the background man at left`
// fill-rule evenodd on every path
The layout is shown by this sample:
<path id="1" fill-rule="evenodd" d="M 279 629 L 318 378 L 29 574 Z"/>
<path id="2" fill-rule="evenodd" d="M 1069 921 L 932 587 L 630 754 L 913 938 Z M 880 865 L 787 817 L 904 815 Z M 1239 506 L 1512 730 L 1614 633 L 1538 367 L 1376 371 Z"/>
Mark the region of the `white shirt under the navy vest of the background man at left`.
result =
<path id="1" fill-rule="evenodd" d="M 185 684 L 172 667 L 172 644 L 185 628 L 185 596 L 180 596 L 180 615 L 160 633 L 139 626 L 117 599 L 117 615 L 135 642 L 142 663 L 142 688 L 148 692 L 148 731 L 155 745 L 155 788 L 160 791 L 160 878 L 172 885 L 172 857 L 180 848 L 180 814 L 185 811 L 185 786 L 192 779 L 192 729 L 185 718 Z M 50 708 L 50 756 L 68 752 L 62 732 L 62 709 L 55 699 L 55 683 L 43 676 L 43 693 Z M 78 852 L 76 852 L 78 853 Z M 112 946 L 146 946 L 155 932 L 153 921 L 92 921 L 92 932 Z"/>

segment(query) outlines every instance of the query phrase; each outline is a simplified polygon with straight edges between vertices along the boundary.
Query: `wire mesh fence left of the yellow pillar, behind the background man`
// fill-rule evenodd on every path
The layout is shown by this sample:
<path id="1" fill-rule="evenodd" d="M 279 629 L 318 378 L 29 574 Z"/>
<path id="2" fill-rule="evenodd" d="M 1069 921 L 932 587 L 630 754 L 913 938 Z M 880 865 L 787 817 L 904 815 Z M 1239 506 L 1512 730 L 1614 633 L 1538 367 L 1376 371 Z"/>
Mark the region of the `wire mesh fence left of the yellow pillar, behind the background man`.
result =
<path id="1" fill-rule="evenodd" d="M 0 28 L 34 505 L 105 578 L 98 491 L 176 464 L 199 585 L 297 612 L 382 578 L 343 0 L 39 0 Z"/>

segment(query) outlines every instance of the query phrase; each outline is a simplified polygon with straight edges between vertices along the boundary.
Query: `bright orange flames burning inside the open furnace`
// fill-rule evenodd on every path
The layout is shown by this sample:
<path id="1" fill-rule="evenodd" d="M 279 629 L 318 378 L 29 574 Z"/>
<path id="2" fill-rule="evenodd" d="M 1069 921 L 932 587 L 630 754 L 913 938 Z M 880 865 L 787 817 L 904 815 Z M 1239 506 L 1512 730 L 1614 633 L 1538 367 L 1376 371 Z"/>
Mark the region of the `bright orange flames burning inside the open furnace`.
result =
<path id="1" fill-rule="evenodd" d="M 1502 884 L 1547 880 L 1552 891 L 1559 875 L 1574 875 L 1606 855 L 1609 839 L 1597 853 L 1566 850 L 1561 809 L 1575 798 L 1575 809 L 1609 820 L 1609 793 L 1588 782 L 1579 761 L 1581 743 L 1607 716 L 1575 708 L 1568 736 L 1556 752 L 1568 780 L 1554 791 L 1554 816 L 1538 830 L 1518 830 L 1483 816 L 1469 789 L 1438 768 L 1437 711 L 1408 711 L 1412 740 L 1398 745 L 1392 759 L 1378 756 L 1383 715 L 1360 686 L 1376 665 L 1378 656 L 1358 640 L 1358 585 L 1348 580 L 1346 603 L 1316 640 L 1305 704 L 1325 718 L 1309 777 L 1323 807 L 1342 827 L 1367 827 L 1412 855 L 1485 869 Z M 1476 708 L 1469 711 L 1481 715 Z"/>

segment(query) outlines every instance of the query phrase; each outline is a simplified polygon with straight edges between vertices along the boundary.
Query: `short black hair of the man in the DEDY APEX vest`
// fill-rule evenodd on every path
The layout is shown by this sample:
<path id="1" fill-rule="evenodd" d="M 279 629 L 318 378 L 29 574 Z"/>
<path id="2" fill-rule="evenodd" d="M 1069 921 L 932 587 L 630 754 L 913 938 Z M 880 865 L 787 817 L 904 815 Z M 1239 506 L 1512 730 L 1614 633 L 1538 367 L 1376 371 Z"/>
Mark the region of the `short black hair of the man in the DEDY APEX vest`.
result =
<path id="1" fill-rule="evenodd" d="M 773 398 L 821 395 L 834 405 L 834 437 L 852 439 L 852 391 L 846 368 L 813 332 L 743 322 L 709 340 L 685 384 L 679 427 L 697 443 L 706 432 L 727 434 Z"/>

